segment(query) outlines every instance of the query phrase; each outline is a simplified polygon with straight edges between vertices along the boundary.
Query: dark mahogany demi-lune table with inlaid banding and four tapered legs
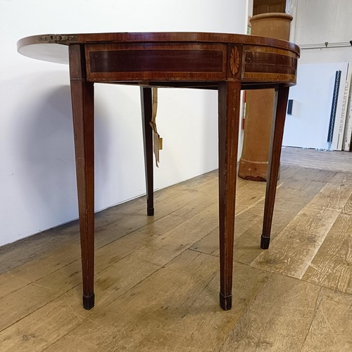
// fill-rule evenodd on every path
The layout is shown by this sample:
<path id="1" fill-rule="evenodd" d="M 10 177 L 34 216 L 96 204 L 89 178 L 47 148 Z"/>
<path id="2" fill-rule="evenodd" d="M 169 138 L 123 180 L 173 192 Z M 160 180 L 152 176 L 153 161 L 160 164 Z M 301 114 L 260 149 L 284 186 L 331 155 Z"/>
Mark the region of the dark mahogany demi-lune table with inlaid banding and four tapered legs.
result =
<path id="1" fill-rule="evenodd" d="M 260 241 L 261 248 L 268 249 L 298 46 L 242 34 L 89 33 L 26 37 L 18 41 L 18 51 L 39 60 L 69 63 L 86 309 L 94 306 L 94 83 L 141 87 L 147 215 L 154 212 L 151 87 L 218 89 L 220 306 L 230 309 L 241 89 L 274 88 L 276 92 Z"/>

